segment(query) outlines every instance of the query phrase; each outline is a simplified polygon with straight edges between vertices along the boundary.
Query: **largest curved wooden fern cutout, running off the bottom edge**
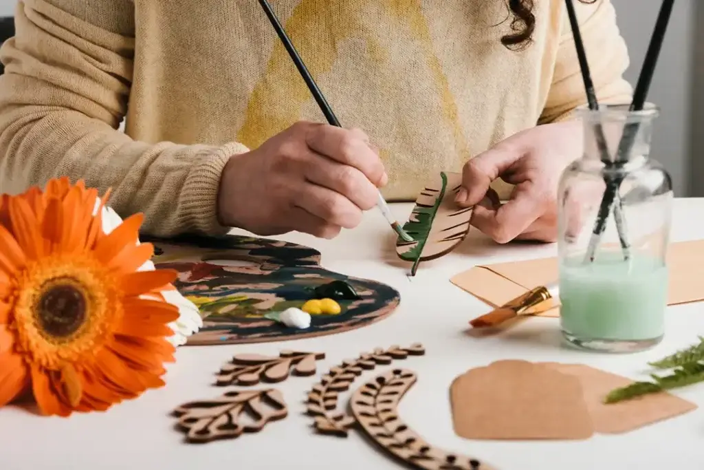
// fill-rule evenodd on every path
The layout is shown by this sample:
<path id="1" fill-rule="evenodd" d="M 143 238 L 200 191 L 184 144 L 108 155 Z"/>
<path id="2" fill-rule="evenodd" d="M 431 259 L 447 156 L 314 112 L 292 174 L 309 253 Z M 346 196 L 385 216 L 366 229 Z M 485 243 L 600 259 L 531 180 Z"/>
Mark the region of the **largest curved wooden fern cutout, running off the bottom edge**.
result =
<path id="1" fill-rule="evenodd" d="M 496 470 L 473 457 L 449 454 L 432 447 L 401 421 L 398 402 L 415 381 L 412 371 L 396 369 L 365 383 L 353 393 L 352 414 L 365 433 L 386 452 L 417 469 Z"/>

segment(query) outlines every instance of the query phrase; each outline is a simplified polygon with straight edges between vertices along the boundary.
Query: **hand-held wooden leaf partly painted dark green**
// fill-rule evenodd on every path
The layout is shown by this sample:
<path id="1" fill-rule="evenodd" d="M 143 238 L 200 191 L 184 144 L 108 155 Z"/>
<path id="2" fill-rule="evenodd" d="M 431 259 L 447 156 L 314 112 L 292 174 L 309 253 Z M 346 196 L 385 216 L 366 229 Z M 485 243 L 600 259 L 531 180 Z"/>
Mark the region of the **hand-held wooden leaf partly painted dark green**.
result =
<path id="1" fill-rule="evenodd" d="M 460 190 L 460 173 L 441 172 L 418 195 L 415 207 L 403 230 L 414 238 L 396 241 L 398 257 L 413 261 L 410 270 L 415 276 L 420 261 L 436 259 L 451 252 L 470 230 L 473 208 L 458 209 L 455 195 Z"/>

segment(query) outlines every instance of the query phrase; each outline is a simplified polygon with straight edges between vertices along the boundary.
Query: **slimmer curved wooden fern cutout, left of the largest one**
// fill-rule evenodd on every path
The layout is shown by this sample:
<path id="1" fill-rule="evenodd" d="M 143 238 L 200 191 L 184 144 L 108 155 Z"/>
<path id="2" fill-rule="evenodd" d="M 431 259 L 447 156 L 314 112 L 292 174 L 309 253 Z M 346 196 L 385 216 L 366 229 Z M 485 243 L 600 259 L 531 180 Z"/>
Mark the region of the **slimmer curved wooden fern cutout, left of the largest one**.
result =
<path id="1" fill-rule="evenodd" d="M 388 365 L 394 359 L 422 354 L 425 354 L 425 349 L 419 344 L 410 347 L 391 346 L 387 350 L 377 348 L 374 352 L 360 354 L 358 359 L 348 359 L 330 369 L 322 376 L 320 383 L 313 385 L 313 389 L 308 392 L 307 411 L 310 416 L 315 416 L 315 430 L 321 434 L 346 438 L 355 420 L 344 412 L 334 411 L 337 409 L 339 392 L 348 390 L 363 371 L 375 369 L 378 364 Z"/>

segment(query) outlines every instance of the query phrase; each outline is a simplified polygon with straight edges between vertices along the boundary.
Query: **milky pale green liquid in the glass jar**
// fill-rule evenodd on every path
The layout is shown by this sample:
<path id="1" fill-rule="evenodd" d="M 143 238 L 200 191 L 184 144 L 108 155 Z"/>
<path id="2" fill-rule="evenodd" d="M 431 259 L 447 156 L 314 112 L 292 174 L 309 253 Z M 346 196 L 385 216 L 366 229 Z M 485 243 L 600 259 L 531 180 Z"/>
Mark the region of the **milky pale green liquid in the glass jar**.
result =
<path id="1" fill-rule="evenodd" d="M 619 253 L 584 264 L 560 265 L 562 330 L 580 340 L 639 341 L 665 330 L 667 266 L 658 259 Z"/>

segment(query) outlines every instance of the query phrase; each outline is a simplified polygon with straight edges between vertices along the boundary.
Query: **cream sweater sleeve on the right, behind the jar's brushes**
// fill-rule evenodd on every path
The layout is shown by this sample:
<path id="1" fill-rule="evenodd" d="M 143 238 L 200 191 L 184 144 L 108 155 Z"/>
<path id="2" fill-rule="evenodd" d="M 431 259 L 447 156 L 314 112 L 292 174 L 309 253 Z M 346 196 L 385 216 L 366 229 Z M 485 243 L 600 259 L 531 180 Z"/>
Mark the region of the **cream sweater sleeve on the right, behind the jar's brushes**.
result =
<path id="1" fill-rule="evenodd" d="M 616 23 L 614 6 L 610 0 L 596 0 L 593 4 L 575 0 L 574 9 L 598 101 L 629 103 L 632 88 L 623 78 L 629 66 L 628 49 Z M 559 41 L 550 91 L 539 124 L 568 119 L 577 106 L 587 103 L 572 27 L 564 6 Z"/>

